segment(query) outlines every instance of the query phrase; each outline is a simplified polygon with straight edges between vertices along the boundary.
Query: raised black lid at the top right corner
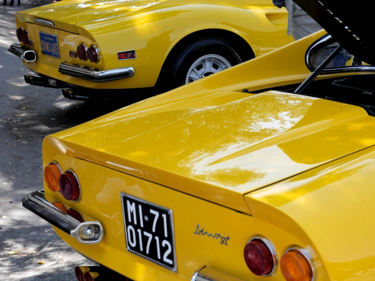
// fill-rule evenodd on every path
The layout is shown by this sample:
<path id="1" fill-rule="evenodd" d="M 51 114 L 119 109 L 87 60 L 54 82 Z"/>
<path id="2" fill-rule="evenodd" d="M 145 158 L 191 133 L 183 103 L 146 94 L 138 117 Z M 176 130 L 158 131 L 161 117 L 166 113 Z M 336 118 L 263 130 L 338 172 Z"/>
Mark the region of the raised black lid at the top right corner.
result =
<path id="1" fill-rule="evenodd" d="M 375 65 L 373 1 L 294 0 L 349 53 Z"/>

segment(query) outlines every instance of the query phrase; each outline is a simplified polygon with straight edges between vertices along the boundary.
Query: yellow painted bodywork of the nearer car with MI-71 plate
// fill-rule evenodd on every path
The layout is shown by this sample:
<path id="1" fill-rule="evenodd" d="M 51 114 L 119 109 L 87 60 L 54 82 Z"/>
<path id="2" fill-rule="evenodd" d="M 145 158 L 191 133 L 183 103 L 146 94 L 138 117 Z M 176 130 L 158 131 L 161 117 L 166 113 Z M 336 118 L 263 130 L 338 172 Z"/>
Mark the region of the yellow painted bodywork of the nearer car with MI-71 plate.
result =
<path id="1" fill-rule="evenodd" d="M 46 137 L 43 166 L 74 170 L 82 192 L 67 201 L 44 183 L 46 198 L 105 232 L 95 245 L 57 234 L 137 281 L 191 280 L 202 266 L 242 280 L 285 280 L 279 265 L 268 277 L 247 268 L 243 249 L 256 235 L 272 241 L 279 259 L 293 245 L 307 249 L 318 280 L 371 280 L 375 118 L 332 100 L 242 92 L 301 83 L 306 49 L 323 33 Z M 273 127 L 277 116 L 283 122 Z M 173 210 L 177 273 L 127 251 L 121 192 Z M 198 225 L 228 243 L 197 234 Z"/>

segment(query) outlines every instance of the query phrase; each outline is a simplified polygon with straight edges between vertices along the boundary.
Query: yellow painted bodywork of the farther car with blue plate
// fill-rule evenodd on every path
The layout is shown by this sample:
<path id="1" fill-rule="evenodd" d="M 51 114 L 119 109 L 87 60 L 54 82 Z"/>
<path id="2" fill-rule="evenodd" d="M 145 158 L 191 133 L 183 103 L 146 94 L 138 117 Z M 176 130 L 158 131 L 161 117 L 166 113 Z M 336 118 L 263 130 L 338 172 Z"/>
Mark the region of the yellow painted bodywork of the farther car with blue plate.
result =
<path id="1" fill-rule="evenodd" d="M 100 7 L 99 7 L 100 6 Z M 54 27 L 36 24 L 35 18 L 52 20 Z M 152 87 L 174 46 L 194 32 L 221 29 L 237 34 L 256 57 L 293 41 L 286 34 L 287 11 L 270 0 L 261 1 L 64 1 L 17 13 L 17 27 L 26 28 L 35 46 L 35 62 L 24 62 L 32 71 L 69 84 L 93 89 Z M 60 59 L 42 54 L 39 32 L 58 37 Z M 75 43 L 75 47 L 65 44 Z M 100 50 L 99 63 L 69 57 L 84 43 Z M 21 44 L 22 45 L 22 44 Z M 137 58 L 118 60 L 117 52 L 136 50 Z M 108 70 L 134 67 L 133 77 L 90 82 L 62 75 L 61 62 Z"/>

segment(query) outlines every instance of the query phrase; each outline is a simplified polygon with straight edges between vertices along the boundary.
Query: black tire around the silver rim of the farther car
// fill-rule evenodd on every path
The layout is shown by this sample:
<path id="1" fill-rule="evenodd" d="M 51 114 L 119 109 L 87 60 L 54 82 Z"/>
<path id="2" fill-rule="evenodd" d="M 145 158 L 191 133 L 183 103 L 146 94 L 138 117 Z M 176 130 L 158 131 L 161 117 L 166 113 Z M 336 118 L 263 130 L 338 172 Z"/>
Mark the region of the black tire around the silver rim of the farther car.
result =
<path id="1" fill-rule="evenodd" d="M 187 72 L 193 63 L 209 54 L 224 57 L 231 66 L 242 62 L 236 47 L 230 42 L 215 37 L 200 39 L 191 43 L 172 59 L 167 75 L 163 79 L 164 86 L 169 87 L 170 90 L 185 85 Z"/>

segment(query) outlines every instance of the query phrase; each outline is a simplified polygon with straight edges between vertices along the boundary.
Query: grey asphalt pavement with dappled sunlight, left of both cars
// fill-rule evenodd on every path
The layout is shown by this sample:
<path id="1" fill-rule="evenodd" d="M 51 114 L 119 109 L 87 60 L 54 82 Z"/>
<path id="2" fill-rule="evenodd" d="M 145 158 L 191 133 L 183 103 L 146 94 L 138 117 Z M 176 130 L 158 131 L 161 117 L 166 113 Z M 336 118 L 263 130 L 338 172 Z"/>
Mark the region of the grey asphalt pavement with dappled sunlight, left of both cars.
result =
<path id="1" fill-rule="evenodd" d="M 24 82 L 23 75 L 33 73 L 8 52 L 17 42 L 15 14 L 48 3 L 43 1 L 21 0 L 21 6 L 13 7 L 10 0 L 7 6 L 0 3 L 0 280 L 75 280 L 76 265 L 93 264 L 68 247 L 49 223 L 23 208 L 21 200 L 43 187 L 46 135 L 133 102 L 69 100 L 60 89 Z"/>

